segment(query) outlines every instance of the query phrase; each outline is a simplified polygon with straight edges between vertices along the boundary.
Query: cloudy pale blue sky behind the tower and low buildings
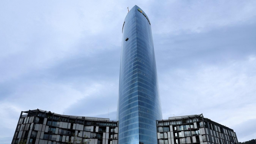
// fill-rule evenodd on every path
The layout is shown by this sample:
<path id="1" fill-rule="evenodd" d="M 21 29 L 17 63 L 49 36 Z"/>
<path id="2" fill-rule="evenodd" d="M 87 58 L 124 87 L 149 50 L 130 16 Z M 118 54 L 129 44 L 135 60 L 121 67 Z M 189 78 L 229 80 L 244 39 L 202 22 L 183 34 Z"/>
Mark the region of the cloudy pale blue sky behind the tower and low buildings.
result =
<path id="1" fill-rule="evenodd" d="M 203 113 L 256 139 L 256 1 L 0 1 L 0 143 L 20 112 L 116 120 L 122 26 L 151 21 L 163 118 Z M 109 109 L 109 115 L 108 115 Z"/>

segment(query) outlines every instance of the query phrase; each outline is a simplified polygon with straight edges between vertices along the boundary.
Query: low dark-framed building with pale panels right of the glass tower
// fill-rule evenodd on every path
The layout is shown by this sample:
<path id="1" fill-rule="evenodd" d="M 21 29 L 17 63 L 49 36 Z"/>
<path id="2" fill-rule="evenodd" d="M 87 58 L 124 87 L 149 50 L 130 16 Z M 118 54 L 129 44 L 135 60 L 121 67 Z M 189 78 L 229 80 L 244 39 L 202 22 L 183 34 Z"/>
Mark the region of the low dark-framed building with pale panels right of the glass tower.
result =
<path id="1" fill-rule="evenodd" d="M 201 115 L 157 121 L 158 144 L 237 144 L 236 132 Z"/>

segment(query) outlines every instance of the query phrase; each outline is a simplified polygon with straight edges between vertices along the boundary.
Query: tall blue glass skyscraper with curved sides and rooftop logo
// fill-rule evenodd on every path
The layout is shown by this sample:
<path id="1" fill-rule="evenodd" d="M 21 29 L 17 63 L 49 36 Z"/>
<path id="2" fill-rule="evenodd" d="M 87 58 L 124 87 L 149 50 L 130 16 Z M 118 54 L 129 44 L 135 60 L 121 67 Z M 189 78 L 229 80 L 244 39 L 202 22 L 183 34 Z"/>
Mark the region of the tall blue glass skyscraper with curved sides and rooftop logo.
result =
<path id="1" fill-rule="evenodd" d="M 117 120 L 119 144 L 156 144 L 162 119 L 156 60 L 148 16 L 135 5 L 124 19 Z"/>

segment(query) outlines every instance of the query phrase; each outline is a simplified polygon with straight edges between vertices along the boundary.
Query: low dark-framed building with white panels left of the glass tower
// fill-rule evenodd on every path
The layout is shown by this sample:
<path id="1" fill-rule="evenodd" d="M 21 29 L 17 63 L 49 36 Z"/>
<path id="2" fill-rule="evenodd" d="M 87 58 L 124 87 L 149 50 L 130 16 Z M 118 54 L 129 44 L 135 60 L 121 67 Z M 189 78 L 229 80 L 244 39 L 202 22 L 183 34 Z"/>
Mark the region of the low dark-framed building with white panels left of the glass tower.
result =
<path id="1" fill-rule="evenodd" d="M 22 111 L 12 144 L 25 140 L 27 144 L 118 144 L 118 122 L 39 109 Z"/>

